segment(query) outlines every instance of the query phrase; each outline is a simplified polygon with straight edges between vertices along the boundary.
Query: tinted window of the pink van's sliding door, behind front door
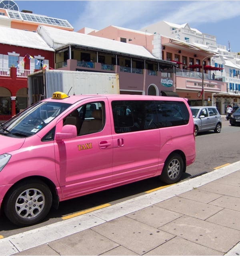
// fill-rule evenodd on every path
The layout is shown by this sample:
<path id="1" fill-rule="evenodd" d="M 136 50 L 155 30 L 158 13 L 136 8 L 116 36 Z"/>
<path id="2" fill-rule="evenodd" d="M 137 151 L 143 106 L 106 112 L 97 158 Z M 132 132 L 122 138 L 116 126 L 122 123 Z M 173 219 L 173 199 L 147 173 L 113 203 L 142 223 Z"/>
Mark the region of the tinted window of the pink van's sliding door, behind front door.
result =
<path id="1" fill-rule="evenodd" d="M 112 102 L 112 114 L 116 133 L 158 128 L 154 101 L 116 100 Z"/>

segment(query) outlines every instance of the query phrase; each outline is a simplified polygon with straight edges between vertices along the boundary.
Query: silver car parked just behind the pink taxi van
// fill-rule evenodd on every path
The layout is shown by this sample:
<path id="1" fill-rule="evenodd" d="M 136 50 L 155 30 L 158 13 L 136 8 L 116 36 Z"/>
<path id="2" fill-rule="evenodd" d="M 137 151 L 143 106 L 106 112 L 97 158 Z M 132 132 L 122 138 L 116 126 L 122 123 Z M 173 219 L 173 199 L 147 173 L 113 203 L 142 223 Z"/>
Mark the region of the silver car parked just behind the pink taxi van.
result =
<path id="1" fill-rule="evenodd" d="M 214 130 L 221 132 L 222 119 L 218 110 L 214 106 L 195 106 L 190 107 L 195 125 L 195 136 L 198 132 Z"/>

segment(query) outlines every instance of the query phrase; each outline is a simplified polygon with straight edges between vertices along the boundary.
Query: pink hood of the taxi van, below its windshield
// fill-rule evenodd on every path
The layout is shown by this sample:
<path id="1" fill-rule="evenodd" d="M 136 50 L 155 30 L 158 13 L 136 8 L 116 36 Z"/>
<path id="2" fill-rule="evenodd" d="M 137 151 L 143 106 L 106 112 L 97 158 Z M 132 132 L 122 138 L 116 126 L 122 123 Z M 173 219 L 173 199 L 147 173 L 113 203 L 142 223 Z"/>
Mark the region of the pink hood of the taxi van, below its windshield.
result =
<path id="1" fill-rule="evenodd" d="M 25 138 L 12 138 L 10 136 L 0 134 L 0 155 L 21 148 Z"/>

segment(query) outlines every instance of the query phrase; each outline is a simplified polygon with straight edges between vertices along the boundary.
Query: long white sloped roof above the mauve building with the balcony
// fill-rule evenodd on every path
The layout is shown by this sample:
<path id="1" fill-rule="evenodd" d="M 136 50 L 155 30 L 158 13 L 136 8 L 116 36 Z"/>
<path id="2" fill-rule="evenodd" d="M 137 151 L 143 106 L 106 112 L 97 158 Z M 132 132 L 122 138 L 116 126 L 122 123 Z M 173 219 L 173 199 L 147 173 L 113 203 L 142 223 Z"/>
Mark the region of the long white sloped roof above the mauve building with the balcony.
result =
<path id="1" fill-rule="evenodd" d="M 135 44 L 127 44 L 107 38 L 42 25 L 38 26 L 37 33 L 54 49 L 70 44 L 158 60 L 146 48 Z"/>

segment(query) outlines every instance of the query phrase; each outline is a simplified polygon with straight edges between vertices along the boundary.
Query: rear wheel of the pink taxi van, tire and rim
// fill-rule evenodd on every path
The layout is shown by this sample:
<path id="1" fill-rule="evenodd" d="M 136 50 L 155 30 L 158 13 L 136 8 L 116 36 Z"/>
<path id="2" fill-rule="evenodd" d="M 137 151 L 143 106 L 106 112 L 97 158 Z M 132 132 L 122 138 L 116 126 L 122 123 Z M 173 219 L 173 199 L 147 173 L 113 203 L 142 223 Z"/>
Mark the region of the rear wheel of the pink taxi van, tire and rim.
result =
<path id="1" fill-rule="evenodd" d="M 159 176 L 160 180 L 167 184 L 173 184 L 182 177 L 184 163 L 179 154 L 170 155 L 163 167 L 162 174 Z"/>

